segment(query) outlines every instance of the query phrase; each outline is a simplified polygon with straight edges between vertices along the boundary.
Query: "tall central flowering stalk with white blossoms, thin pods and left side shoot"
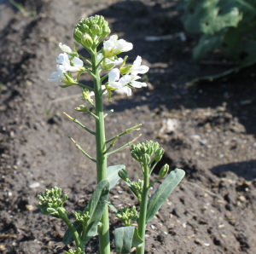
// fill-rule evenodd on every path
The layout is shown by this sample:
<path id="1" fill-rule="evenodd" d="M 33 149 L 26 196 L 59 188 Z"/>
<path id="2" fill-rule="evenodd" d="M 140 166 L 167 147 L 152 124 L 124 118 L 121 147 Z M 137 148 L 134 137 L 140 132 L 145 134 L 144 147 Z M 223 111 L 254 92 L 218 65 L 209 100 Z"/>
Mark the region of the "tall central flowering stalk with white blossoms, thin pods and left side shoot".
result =
<path id="1" fill-rule="evenodd" d="M 65 216 L 58 215 L 59 218 L 67 223 L 69 228 L 64 236 L 64 243 L 68 245 L 74 240 L 77 247 L 76 251 L 69 250 L 67 253 L 84 254 L 84 243 L 98 233 L 100 253 L 110 254 L 108 192 L 109 188 L 113 188 L 114 184 L 119 180 L 118 171 L 124 169 L 125 165 L 114 165 L 107 168 L 107 158 L 109 155 L 130 146 L 137 139 L 133 139 L 111 151 L 120 136 L 124 136 L 134 130 L 140 130 L 139 127 L 141 126 L 141 124 L 137 124 L 106 141 L 104 118 L 109 113 L 112 113 L 113 110 L 104 113 L 103 95 L 108 94 L 109 101 L 112 99 L 113 92 L 131 95 L 131 89 L 147 86 L 146 83 L 137 80 L 140 78 L 139 74 L 148 72 L 148 66 L 142 65 L 142 58 L 140 56 L 137 56 L 136 61 L 132 65 L 126 65 L 127 56 L 124 59 L 118 58 L 117 55 L 131 50 L 133 45 L 123 39 L 118 39 L 117 35 L 112 35 L 108 40 L 105 40 L 109 33 L 108 22 L 102 16 L 96 15 L 89 19 L 79 20 L 79 23 L 75 26 L 73 38 L 87 50 L 90 59 L 79 55 L 76 44 L 74 44 L 73 50 L 67 45 L 60 43 L 59 46 L 63 53 L 57 57 L 57 70 L 52 72 L 51 78 L 49 78 L 49 82 L 61 83 L 62 88 L 73 85 L 82 88 L 84 101 L 89 103 L 92 109 L 86 105 L 79 105 L 75 110 L 81 113 L 89 113 L 96 121 L 96 130 L 90 130 L 78 119 L 64 113 L 68 119 L 78 124 L 89 132 L 90 135 L 96 137 L 96 159 L 86 153 L 72 137 L 70 137 L 70 140 L 73 141 L 80 152 L 96 163 L 97 171 L 96 190 L 84 211 L 73 213 L 76 218 L 75 222 L 69 220 L 67 212 L 62 206 L 63 202 L 58 196 L 60 193 L 56 196 L 54 191 L 51 193 L 48 190 L 47 192 L 50 192 L 48 194 L 50 198 L 53 195 L 57 199 L 57 202 L 54 203 L 55 210 L 58 211 L 58 205 L 61 205 L 61 211 L 63 209 L 65 211 Z M 98 50 L 97 48 L 101 43 L 103 44 L 102 49 Z M 93 87 L 79 83 L 79 78 L 84 72 L 90 74 L 93 79 Z M 104 84 L 102 84 L 103 82 Z M 95 100 L 92 99 L 92 96 L 95 96 Z M 42 204 L 41 207 L 44 208 L 44 214 L 55 215 L 51 199 L 45 199 L 44 204 Z M 131 212 L 131 214 L 134 215 L 134 212 Z M 136 215 L 134 216 L 136 217 Z"/>

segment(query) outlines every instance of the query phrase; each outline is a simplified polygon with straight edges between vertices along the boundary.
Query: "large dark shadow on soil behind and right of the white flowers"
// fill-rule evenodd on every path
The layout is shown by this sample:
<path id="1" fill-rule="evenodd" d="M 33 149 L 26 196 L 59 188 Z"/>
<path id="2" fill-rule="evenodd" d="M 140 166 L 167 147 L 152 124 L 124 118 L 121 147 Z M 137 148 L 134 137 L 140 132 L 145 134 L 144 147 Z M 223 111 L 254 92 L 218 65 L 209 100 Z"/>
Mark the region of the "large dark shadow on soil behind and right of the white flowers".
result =
<path id="1" fill-rule="evenodd" d="M 224 72 L 225 67 L 196 64 L 192 61 L 191 49 L 195 40 L 189 35 L 186 35 L 185 42 L 179 38 L 154 42 L 145 39 L 147 36 L 158 37 L 183 32 L 182 22 L 177 18 L 181 14 L 177 12 L 176 3 L 170 2 L 166 8 L 161 8 L 158 3 L 149 6 L 138 1 L 124 1 L 114 3 L 96 14 L 104 15 L 107 20 L 114 20 L 112 31 L 121 32 L 122 38 L 134 43 L 134 49 L 129 52 L 130 61 L 134 61 L 137 55 L 142 55 L 143 59 L 151 64 L 150 73 L 143 78 L 152 84 L 152 87 L 146 92 L 145 89 L 136 91 L 144 100 L 121 99 L 109 108 L 123 111 L 124 108 L 129 109 L 143 104 L 149 104 L 151 109 L 161 106 L 179 109 L 225 105 L 233 117 L 239 118 L 248 134 L 256 134 L 253 124 L 256 121 L 256 85 L 253 75 L 255 66 L 229 79 L 204 83 L 188 89 L 185 84 L 193 78 Z M 147 29 L 144 29 L 145 26 Z M 159 59 L 159 62 L 155 63 L 155 59 Z"/>

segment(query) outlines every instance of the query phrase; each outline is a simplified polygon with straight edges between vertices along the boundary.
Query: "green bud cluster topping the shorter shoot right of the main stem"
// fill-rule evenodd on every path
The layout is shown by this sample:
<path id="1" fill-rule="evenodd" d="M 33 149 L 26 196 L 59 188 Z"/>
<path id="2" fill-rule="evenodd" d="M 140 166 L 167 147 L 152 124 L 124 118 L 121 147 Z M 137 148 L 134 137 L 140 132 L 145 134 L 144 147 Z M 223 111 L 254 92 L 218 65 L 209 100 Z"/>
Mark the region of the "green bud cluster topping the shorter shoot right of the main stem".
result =
<path id="1" fill-rule="evenodd" d="M 154 141 L 145 141 L 131 146 L 131 156 L 145 166 L 149 166 L 153 162 L 151 159 L 153 155 L 154 160 L 159 162 L 164 152 L 164 149 L 159 147 L 159 143 Z"/>

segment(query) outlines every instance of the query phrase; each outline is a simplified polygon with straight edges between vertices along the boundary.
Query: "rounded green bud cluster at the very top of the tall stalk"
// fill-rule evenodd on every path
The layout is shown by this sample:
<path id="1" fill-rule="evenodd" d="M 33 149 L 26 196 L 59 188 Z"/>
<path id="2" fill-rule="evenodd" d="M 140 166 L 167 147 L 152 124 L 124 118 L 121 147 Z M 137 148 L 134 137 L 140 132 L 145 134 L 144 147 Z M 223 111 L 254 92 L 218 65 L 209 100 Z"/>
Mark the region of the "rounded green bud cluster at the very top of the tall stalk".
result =
<path id="1" fill-rule="evenodd" d="M 88 19 L 81 19 L 75 26 L 73 38 L 86 49 L 101 43 L 110 33 L 108 22 L 101 15 L 95 15 Z"/>

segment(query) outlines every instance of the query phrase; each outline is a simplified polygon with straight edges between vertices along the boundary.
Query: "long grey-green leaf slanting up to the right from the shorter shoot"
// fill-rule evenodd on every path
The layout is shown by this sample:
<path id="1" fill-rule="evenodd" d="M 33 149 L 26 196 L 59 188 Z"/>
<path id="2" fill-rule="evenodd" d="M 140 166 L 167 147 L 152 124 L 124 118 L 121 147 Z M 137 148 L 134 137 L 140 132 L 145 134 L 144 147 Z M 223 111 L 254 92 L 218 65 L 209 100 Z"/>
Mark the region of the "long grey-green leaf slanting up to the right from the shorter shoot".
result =
<path id="1" fill-rule="evenodd" d="M 160 210 L 161 205 L 163 205 L 168 196 L 172 193 L 173 189 L 182 181 L 184 176 L 184 170 L 172 170 L 164 182 L 160 184 L 154 195 L 152 195 L 148 200 L 146 222 L 150 222 L 153 219 L 155 213 Z"/>

